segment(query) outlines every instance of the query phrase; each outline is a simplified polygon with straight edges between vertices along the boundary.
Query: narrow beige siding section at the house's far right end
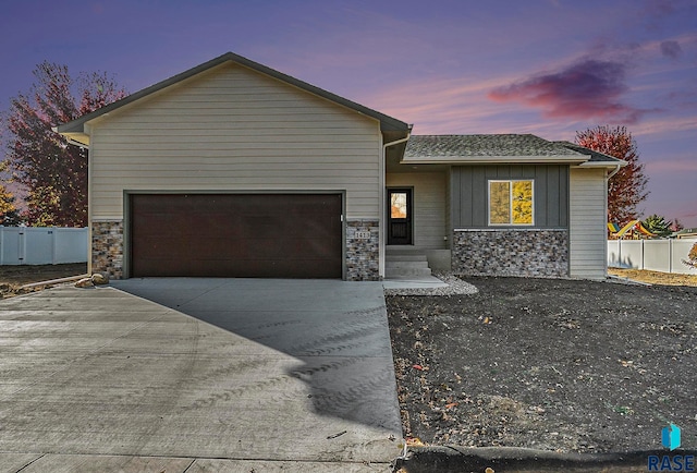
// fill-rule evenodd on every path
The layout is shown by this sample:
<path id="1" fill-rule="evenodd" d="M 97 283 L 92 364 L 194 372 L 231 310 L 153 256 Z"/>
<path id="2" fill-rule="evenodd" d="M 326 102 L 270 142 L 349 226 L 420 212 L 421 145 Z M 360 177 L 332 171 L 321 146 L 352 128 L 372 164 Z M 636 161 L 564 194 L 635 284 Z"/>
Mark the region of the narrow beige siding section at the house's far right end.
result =
<path id="1" fill-rule="evenodd" d="M 571 169 L 570 276 L 607 276 L 607 201 L 604 169 Z"/>

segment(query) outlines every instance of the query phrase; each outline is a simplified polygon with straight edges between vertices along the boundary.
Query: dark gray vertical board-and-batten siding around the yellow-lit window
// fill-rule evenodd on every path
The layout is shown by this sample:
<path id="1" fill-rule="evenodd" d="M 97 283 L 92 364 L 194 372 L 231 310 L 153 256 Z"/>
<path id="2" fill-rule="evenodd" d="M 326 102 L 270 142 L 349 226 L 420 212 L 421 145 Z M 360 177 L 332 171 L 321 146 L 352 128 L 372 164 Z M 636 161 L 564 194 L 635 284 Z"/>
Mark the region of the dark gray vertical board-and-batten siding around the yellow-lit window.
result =
<path id="1" fill-rule="evenodd" d="M 453 228 L 488 227 L 488 181 L 498 179 L 535 180 L 533 228 L 568 227 L 568 166 L 482 165 L 452 168 L 450 185 Z"/>

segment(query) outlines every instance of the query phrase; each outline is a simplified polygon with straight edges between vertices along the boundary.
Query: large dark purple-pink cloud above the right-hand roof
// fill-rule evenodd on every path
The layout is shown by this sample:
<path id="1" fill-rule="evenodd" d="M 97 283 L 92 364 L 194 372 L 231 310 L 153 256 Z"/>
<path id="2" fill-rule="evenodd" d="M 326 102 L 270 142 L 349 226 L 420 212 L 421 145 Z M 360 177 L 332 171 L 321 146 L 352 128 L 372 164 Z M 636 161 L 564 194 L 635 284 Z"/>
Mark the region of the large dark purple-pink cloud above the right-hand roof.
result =
<path id="1" fill-rule="evenodd" d="M 539 108 L 547 118 L 603 119 L 632 124 L 645 111 L 621 101 L 628 89 L 625 69 L 621 62 L 584 59 L 558 72 L 494 88 L 488 97 Z"/>

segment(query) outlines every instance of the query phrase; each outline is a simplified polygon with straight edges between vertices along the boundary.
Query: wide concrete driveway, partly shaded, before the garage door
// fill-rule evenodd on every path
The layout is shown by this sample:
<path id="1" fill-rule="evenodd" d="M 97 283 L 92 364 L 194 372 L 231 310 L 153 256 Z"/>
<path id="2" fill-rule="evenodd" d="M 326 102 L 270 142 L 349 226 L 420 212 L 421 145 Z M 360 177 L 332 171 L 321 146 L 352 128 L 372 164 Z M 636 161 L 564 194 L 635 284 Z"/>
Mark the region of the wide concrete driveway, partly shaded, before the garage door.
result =
<path id="1" fill-rule="evenodd" d="M 389 471 L 382 286 L 132 279 L 0 302 L 0 472 Z"/>

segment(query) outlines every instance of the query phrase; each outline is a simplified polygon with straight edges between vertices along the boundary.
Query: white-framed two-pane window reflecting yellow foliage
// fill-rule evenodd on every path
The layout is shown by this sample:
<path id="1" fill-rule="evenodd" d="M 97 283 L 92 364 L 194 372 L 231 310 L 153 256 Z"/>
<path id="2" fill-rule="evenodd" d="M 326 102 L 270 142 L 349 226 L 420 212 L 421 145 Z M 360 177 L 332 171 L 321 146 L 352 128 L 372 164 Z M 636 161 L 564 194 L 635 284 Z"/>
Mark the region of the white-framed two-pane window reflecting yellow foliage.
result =
<path id="1" fill-rule="evenodd" d="M 533 225 L 533 181 L 489 181 L 489 225 Z"/>

